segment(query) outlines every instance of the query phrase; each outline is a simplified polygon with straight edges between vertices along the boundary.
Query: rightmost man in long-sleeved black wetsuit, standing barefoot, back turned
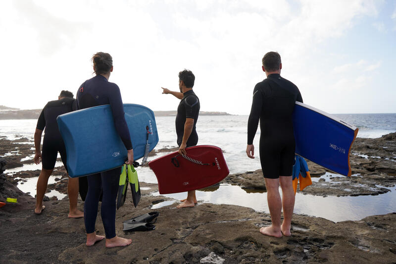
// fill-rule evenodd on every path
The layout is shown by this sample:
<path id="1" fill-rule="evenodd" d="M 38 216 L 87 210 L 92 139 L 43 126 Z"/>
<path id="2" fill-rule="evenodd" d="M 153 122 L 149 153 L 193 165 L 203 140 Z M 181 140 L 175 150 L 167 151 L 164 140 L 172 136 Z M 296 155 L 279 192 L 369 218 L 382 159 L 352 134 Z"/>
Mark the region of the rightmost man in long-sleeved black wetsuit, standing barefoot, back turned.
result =
<path id="1" fill-rule="evenodd" d="M 297 86 L 280 76 L 282 63 L 278 53 L 266 53 L 262 63 L 267 79 L 256 84 L 253 90 L 246 153 L 247 157 L 254 158 L 253 139 L 260 120 L 260 162 L 272 220 L 272 225 L 261 227 L 260 232 L 273 237 L 290 236 L 295 202 L 292 170 L 296 147 L 292 114 L 295 102 L 302 103 L 302 98 Z M 284 218 L 281 225 L 282 207 Z"/>

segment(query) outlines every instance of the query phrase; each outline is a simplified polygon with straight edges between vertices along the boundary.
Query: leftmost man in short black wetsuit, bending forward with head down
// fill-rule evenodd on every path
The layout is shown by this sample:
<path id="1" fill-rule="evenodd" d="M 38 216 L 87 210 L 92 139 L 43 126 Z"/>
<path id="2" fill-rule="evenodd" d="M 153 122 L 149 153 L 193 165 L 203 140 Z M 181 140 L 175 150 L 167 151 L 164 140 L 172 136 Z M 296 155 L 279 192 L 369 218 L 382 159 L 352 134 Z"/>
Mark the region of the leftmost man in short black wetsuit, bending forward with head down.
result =
<path id="1" fill-rule="evenodd" d="M 62 159 L 63 165 L 66 168 L 66 149 L 60 135 L 56 117 L 58 115 L 68 113 L 76 110 L 76 100 L 73 99 L 73 94 L 69 91 L 62 91 L 56 101 L 50 101 L 41 111 L 39 120 L 37 121 L 36 132 L 34 133 L 34 145 L 36 154 L 34 162 L 40 163 L 42 159 L 43 165 L 37 181 L 37 195 L 35 213 L 40 214 L 45 206 L 43 206 L 44 194 L 47 190 L 49 176 L 55 167 L 58 152 Z M 45 128 L 43 152 L 40 152 L 41 135 Z M 69 196 L 69 216 L 70 218 L 80 218 L 84 213 L 77 209 L 78 198 L 78 178 L 70 178 L 67 184 L 67 194 Z"/>

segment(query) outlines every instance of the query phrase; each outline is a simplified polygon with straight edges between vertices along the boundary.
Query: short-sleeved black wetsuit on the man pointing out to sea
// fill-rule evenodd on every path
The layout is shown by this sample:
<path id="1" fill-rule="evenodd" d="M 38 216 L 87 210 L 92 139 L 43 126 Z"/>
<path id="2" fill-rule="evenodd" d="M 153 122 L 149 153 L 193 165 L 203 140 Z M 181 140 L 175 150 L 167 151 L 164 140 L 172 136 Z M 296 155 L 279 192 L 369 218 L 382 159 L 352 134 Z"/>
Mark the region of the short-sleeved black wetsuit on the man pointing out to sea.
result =
<path id="1" fill-rule="evenodd" d="M 186 118 L 194 119 L 193 131 L 189 139 L 187 140 L 187 147 L 196 146 L 198 144 L 198 134 L 196 129 L 196 124 L 199 115 L 199 99 L 193 90 L 187 91 L 183 94 L 183 99 L 180 101 L 177 107 L 176 115 L 176 134 L 177 134 L 177 145 L 182 144 L 183 134 L 184 134 L 184 124 L 186 123 Z"/>

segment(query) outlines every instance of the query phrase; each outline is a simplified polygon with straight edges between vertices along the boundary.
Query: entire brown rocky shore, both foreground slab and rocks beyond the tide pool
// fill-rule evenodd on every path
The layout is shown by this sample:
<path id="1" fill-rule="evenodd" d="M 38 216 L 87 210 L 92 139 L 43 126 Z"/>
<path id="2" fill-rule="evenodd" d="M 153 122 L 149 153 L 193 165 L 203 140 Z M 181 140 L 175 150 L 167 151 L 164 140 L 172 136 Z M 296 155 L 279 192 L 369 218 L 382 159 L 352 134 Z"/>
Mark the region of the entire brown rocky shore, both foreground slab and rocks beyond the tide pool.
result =
<path id="1" fill-rule="evenodd" d="M 5 168 L 16 168 L 33 162 L 33 145 L 29 139 L 0 139 L 0 174 Z M 174 151 L 171 148 L 156 150 Z M 21 159 L 24 161 L 21 161 Z M 350 162 L 351 177 L 339 177 L 308 162 L 312 186 L 301 193 L 316 196 L 378 195 L 395 191 L 396 133 L 379 139 L 357 138 Z M 5 167 L 3 165 L 5 164 Z M 67 175 L 59 175 L 49 190 L 66 193 Z M 373 215 L 358 221 L 333 222 L 320 217 L 295 214 L 292 237 L 272 238 L 261 235 L 258 228 L 270 223 L 269 214 L 232 205 L 202 204 L 178 210 L 170 198 L 152 196 L 156 184 L 141 183 L 142 200 L 134 208 L 131 194 L 117 211 L 119 236 L 132 238 L 126 248 L 106 249 L 103 242 L 85 246 L 83 219 L 68 219 L 68 199 L 47 198 L 46 210 L 35 215 L 35 199 L 21 192 L 15 184 L 38 176 L 39 170 L 24 170 L 0 186 L 0 202 L 6 197 L 18 203 L 7 203 L 0 209 L 0 263 L 396 263 L 396 212 Z M 21 178 L 15 180 L 15 177 Z M 315 177 L 320 177 L 315 180 Z M 4 174 L 2 174 L 2 179 Z M 260 170 L 229 175 L 224 183 L 244 189 L 265 191 Z M 1 179 L 0 179 L 1 183 Z M 170 205 L 157 208 L 161 202 Z M 265 201 L 263 201 L 265 202 Z M 83 202 L 79 200 L 80 209 Z M 154 208 L 153 208 L 154 207 Z M 148 211 L 159 211 L 156 228 L 147 232 L 124 232 L 122 221 Z M 103 234 L 101 219 L 97 232 Z M 215 255 L 214 255 L 215 254 Z M 206 262 L 205 262 L 206 260 Z M 213 263 L 213 262 L 212 262 Z"/>

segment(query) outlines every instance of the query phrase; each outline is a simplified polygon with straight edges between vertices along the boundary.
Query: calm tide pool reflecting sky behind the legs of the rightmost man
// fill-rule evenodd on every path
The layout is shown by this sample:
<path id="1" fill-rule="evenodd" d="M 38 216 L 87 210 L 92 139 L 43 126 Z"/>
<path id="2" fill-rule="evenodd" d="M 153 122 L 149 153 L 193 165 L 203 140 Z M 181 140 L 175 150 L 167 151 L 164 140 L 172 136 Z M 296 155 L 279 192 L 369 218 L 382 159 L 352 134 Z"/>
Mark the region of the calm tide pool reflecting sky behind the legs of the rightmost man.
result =
<path id="1" fill-rule="evenodd" d="M 282 191 L 280 190 L 282 194 Z M 159 192 L 152 193 L 154 196 Z M 185 199 L 187 193 L 165 194 L 176 200 Z M 235 185 L 221 184 L 215 191 L 197 191 L 198 206 L 201 203 L 227 204 L 249 207 L 256 211 L 269 212 L 266 193 L 247 193 Z M 396 190 L 381 195 L 368 196 L 313 196 L 296 194 L 294 212 L 331 221 L 360 220 L 369 215 L 396 211 Z"/>

